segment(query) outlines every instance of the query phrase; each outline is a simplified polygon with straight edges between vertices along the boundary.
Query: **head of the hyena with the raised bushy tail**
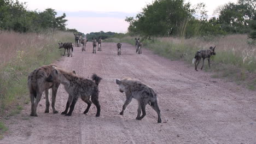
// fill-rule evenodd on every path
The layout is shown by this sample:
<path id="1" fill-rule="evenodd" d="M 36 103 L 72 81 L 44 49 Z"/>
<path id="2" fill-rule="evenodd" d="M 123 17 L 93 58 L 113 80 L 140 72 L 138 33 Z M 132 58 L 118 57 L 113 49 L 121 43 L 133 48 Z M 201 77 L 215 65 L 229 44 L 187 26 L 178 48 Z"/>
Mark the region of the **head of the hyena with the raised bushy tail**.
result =
<path id="1" fill-rule="evenodd" d="M 71 73 L 76 74 L 74 70 Z M 53 70 L 47 77 L 46 81 L 61 83 L 63 80 L 65 80 L 65 76 L 61 73 L 61 70 L 53 66 Z"/>

